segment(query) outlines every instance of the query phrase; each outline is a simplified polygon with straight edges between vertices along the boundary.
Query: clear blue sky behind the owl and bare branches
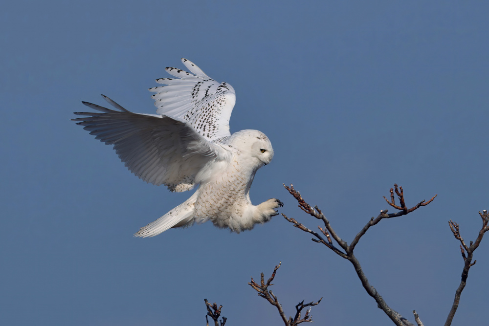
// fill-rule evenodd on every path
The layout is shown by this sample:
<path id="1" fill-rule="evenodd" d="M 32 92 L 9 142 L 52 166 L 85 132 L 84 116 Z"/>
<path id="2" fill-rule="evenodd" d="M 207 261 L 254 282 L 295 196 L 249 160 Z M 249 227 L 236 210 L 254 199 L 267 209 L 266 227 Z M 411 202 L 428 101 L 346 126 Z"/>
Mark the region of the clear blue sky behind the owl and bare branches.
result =
<path id="1" fill-rule="evenodd" d="M 463 261 L 447 221 L 475 239 L 488 209 L 489 5 L 479 1 L 16 1 L 0 13 L 0 320 L 4 325 L 205 325 L 203 299 L 229 325 L 281 325 L 247 282 L 282 261 L 272 290 L 317 325 L 391 325 L 347 261 L 282 217 L 239 235 L 210 223 L 133 238 L 189 193 L 133 176 L 69 121 L 103 104 L 154 113 L 147 88 L 185 57 L 237 92 L 231 132 L 257 129 L 275 157 L 259 203 L 314 228 L 293 183 L 350 242 L 387 208 L 356 257 L 386 302 L 441 324 Z M 454 325 L 486 320 L 489 239 Z"/>

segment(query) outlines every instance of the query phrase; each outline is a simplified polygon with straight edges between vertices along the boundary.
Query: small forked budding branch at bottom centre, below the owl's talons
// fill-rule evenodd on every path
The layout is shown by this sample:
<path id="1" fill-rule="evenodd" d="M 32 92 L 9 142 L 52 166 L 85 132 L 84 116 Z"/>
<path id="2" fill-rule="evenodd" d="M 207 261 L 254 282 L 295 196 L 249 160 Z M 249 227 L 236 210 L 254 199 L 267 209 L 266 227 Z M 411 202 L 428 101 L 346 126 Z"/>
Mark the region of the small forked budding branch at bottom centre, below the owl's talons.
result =
<path id="1" fill-rule="evenodd" d="M 273 285 L 273 284 L 271 284 L 271 282 L 275 278 L 275 273 L 277 272 L 277 270 L 279 269 L 281 264 L 282 264 L 282 261 L 277 266 L 275 266 L 275 268 L 273 269 L 273 273 L 270 276 L 270 278 L 268 279 L 267 283 L 265 283 L 264 274 L 261 273 L 260 274 L 260 284 L 256 283 L 253 280 L 253 278 L 251 278 L 251 282 L 249 282 L 248 285 L 250 285 L 252 288 L 254 288 L 258 292 L 258 295 L 260 297 L 267 299 L 267 301 L 270 304 L 273 304 L 274 306 L 277 307 L 279 314 L 280 314 L 280 317 L 282 317 L 282 320 L 284 321 L 284 324 L 286 326 L 297 326 L 298 324 L 301 324 L 304 322 L 312 322 L 312 316 L 310 315 L 311 308 L 306 310 L 306 314 L 304 315 L 304 318 L 301 319 L 302 309 L 304 309 L 305 307 L 311 307 L 313 305 L 319 304 L 323 298 L 319 299 L 317 302 L 310 302 L 309 304 L 304 304 L 304 300 L 302 302 L 298 303 L 295 306 L 296 313 L 295 313 L 294 318 L 292 319 L 292 317 L 287 318 L 284 310 L 282 309 L 282 305 L 279 304 L 279 302 L 278 302 L 277 297 L 273 294 L 273 292 L 271 290 L 268 290 L 268 286 Z"/>

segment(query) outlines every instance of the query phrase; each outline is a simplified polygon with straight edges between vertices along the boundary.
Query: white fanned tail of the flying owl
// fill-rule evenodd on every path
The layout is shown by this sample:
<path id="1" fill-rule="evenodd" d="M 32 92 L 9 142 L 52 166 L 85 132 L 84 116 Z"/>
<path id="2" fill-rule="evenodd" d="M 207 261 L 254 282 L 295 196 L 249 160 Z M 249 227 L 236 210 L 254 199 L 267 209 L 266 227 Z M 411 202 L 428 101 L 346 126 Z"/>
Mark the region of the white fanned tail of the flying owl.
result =
<path id="1" fill-rule="evenodd" d="M 134 237 L 154 237 L 171 228 L 191 225 L 194 222 L 194 204 L 197 200 L 197 192 L 185 200 L 170 212 L 166 213 L 156 221 L 142 227 L 134 234 Z"/>

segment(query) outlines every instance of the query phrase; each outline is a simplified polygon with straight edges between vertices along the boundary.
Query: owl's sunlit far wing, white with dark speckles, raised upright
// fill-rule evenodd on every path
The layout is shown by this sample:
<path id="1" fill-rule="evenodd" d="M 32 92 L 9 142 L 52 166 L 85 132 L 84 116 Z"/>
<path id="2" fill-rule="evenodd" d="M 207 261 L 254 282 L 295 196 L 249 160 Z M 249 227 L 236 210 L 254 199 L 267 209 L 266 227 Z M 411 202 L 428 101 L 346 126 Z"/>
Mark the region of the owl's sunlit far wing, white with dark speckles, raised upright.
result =
<path id="1" fill-rule="evenodd" d="M 156 112 L 185 120 L 203 137 L 214 140 L 229 136 L 229 118 L 236 103 L 234 88 L 207 76 L 187 59 L 182 63 L 192 72 L 167 67 L 166 71 L 177 78 L 160 78 L 153 87 Z"/>

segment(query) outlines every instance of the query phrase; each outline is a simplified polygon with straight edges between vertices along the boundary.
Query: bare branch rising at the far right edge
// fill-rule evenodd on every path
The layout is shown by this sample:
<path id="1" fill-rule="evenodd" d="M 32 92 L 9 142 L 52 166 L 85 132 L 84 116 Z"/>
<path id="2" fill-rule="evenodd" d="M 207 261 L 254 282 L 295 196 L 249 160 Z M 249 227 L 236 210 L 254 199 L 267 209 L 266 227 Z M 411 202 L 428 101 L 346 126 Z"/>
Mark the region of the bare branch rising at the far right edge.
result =
<path id="1" fill-rule="evenodd" d="M 480 217 L 482 218 L 482 227 L 479 231 L 479 235 L 477 239 L 475 239 L 475 242 L 470 241 L 470 245 L 467 246 L 465 243 L 464 239 L 460 236 L 460 227 L 457 223 L 453 222 L 451 219 L 448 221 L 448 225 L 450 226 L 450 230 L 453 233 L 453 236 L 455 239 L 460 241 L 460 251 L 462 253 L 462 258 L 464 259 L 464 269 L 462 270 L 462 279 L 460 281 L 460 285 L 455 291 L 455 298 L 453 299 L 453 304 L 452 308 L 450 309 L 450 312 L 448 313 L 448 317 L 446 318 L 445 326 L 450 326 L 453 320 L 453 316 L 455 316 L 455 312 L 457 311 L 459 302 L 460 302 L 460 295 L 462 294 L 462 291 L 464 290 L 465 285 L 467 284 L 467 277 L 468 277 L 468 270 L 470 267 L 475 265 L 477 261 L 474 260 L 472 262 L 473 258 L 473 253 L 475 249 L 479 246 L 479 244 L 482 241 L 482 238 L 484 237 L 484 234 L 489 230 L 488 222 L 489 222 L 489 213 L 488 211 L 484 210 L 479 212 Z M 465 250 L 464 250 L 465 249 Z M 467 254 L 466 254 L 467 251 Z"/>

